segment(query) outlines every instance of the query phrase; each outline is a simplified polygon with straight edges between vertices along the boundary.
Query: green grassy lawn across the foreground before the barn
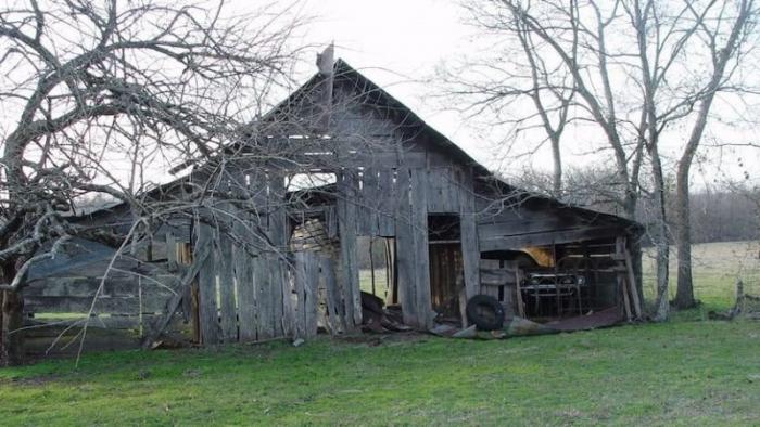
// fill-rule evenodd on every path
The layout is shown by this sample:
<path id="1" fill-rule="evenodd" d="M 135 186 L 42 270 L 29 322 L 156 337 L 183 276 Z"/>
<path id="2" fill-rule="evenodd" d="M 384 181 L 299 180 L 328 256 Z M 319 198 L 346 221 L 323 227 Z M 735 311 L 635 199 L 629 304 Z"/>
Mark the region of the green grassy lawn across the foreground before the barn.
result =
<path id="1" fill-rule="evenodd" d="M 719 309 L 737 267 L 724 262 L 699 271 L 698 297 Z M 699 310 L 497 341 L 320 337 L 299 348 L 89 354 L 78 370 L 46 361 L 0 370 L 0 423 L 760 424 L 760 323 L 695 321 Z"/>

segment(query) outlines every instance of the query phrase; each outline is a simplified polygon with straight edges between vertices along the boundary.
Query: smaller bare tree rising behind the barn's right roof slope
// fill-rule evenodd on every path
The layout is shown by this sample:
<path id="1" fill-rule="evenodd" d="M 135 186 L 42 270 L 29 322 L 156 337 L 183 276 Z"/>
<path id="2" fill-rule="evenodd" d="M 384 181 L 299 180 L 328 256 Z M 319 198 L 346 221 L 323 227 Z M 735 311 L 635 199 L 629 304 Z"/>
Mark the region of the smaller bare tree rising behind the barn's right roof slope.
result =
<path id="1" fill-rule="evenodd" d="M 545 142 L 549 143 L 553 159 L 553 181 L 550 194 L 562 194 L 562 134 L 572 117 L 575 87 L 572 78 L 561 64 L 547 61 L 542 55 L 544 43 L 527 28 L 519 17 L 504 14 L 501 10 L 482 8 L 482 2 L 468 1 L 465 9 L 472 17 L 472 24 L 495 34 L 507 33 L 509 39 L 498 46 L 495 57 L 480 61 L 466 57 L 460 64 L 447 64 L 440 69 L 439 78 L 446 85 L 446 99 L 467 99 L 460 106 L 469 117 L 493 117 L 490 126 L 507 127 L 509 144 L 520 144 L 521 137 L 530 138 L 543 132 L 537 144 L 528 147 L 534 154 Z M 506 31 L 505 31 L 506 30 Z M 578 51 L 578 31 L 572 31 L 569 48 L 574 57 Z M 457 100 L 458 101 L 458 100 Z M 460 105 L 453 102 L 449 105 Z M 527 108 L 525 108 L 527 107 Z M 524 153 L 521 153 L 524 155 Z"/>

